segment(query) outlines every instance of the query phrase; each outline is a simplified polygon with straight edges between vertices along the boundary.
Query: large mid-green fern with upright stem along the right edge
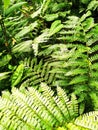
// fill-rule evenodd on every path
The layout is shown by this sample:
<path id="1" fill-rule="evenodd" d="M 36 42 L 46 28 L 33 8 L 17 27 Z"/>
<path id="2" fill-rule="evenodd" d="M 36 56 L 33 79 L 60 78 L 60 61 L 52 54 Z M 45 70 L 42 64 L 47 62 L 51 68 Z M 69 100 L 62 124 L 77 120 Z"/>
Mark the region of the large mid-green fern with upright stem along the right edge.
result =
<path id="1" fill-rule="evenodd" d="M 97 82 L 97 24 L 90 17 L 91 13 L 87 12 L 81 18 L 70 16 L 69 20 L 64 23 L 64 28 L 60 31 L 59 40 L 66 40 L 66 45 L 60 44 L 50 46 L 46 49 L 53 59 L 59 60 L 52 62 L 52 66 L 56 66 L 51 73 L 56 73 L 55 84 L 68 86 L 70 91 L 74 91 L 79 95 L 80 101 L 84 100 L 82 94 L 97 90 L 94 84 Z M 65 35 L 65 36 L 64 36 Z M 58 46 L 58 49 L 56 47 Z M 63 49 L 61 49 L 63 48 Z M 63 51 L 62 51 L 63 50 Z M 65 78 L 64 78 L 65 77 Z M 58 80 L 59 79 L 59 80 Z M 77 87 L 76 87 L 77 86 Z M 82 94 L 80 95 L 80 93 Z M 90 95 L 90 94 L 88 94 Z M 86 97 L 84 97 L 86 98 Z M 96 97 L 97 98 L 97 97 Z M 94 103 L 93 99 L 93 103 Z M 96 108 L 97 105 L 95 104 Z"/>

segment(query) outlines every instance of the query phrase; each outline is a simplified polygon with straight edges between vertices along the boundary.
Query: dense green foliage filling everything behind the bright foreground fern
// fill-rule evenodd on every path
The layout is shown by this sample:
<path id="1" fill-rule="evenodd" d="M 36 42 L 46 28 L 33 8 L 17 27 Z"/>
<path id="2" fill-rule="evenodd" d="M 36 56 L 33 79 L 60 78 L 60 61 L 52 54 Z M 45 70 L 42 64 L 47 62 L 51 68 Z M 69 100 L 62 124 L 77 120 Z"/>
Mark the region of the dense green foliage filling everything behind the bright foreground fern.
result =
<path id="1" fill-rule="evenodd" d="M 98 1 L 1 0 L 0 91 L 45 82 L 98 109 Z"/>

